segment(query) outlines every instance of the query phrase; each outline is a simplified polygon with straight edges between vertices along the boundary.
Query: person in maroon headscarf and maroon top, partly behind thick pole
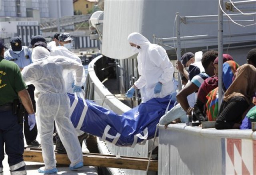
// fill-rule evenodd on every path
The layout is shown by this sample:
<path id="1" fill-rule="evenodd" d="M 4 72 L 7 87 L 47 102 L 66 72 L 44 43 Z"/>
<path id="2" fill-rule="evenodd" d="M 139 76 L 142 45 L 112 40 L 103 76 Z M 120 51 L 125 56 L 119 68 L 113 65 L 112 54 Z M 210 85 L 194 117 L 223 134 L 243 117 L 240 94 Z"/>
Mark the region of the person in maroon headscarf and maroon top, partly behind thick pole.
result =
<path id="1" fill-rule="evenodd" d="M 231 55 L 223 54 L 223 63 L 233 60 Z M 196 104 L 194 105 L 194 116 L 201 122 L 207 121 L 205 104 L 207 102 L 207 94 L 218 87 L 218 57 L 213 62 L 214 76 L 204 80 L 197 93 Z"/>

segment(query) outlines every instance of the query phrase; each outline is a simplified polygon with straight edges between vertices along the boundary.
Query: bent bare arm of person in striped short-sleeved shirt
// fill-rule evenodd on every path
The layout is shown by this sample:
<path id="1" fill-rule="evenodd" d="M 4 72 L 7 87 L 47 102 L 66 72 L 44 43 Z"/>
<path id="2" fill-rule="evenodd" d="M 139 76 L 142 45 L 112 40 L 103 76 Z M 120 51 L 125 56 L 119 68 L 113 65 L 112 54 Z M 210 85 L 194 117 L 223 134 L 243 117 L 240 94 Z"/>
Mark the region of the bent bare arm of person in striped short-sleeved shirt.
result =
<path id="1" fill-rule="evenodd" d="M 188 109 L 190 108 L 188 104 L 187 96 L 192 94 L 193 92 L 196 92 L 198 90 L 198 87 L 194 84 L 189 82 L 180 92 L 178 92 L 176 98 L 177 101 L 180 103 L 180 106 L 188 112 Z"/>

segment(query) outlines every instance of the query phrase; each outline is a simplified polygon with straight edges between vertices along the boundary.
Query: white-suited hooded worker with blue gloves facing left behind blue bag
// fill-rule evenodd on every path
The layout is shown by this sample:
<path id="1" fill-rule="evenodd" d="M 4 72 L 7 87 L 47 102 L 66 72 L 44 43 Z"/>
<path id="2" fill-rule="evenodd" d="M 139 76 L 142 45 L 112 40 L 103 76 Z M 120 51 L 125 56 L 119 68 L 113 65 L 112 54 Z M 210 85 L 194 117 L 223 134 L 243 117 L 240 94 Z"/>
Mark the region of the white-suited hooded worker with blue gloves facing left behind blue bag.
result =
<path id="1" fill-rule="evenodd" d="M 128 42 L 137 56 L 139 79 L 127 91 L 126 96 L 132 97 L 136 88 L 140 89 L 142 102 L 152 98 L 163 98 L 173 88 L 174 67 L 163 47 L 152 44 L 140 33 L 131 33 Z"/>

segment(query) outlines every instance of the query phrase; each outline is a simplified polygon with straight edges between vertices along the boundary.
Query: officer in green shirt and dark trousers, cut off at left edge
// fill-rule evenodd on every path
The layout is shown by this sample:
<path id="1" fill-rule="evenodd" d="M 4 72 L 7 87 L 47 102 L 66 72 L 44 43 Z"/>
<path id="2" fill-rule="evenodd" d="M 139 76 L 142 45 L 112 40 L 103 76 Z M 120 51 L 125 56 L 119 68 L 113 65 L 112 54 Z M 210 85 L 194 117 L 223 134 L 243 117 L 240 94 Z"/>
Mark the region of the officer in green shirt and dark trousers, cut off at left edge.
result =
<path id="1" fill-rule="evenodd" d="M 28 111 L 30 130 L 34 128 L 36 119 L 20 68 L 16 63 L 4 59 L 5 49 L 7 48 L 0 39 L 0 175 L 3 175 L 4 144 L 5 152 L 8 155 L 10 174 L 26 175 L 23 161 L 23 121 L 18 120 L 18 116 L 21 116 L 18 114 L 22 113 L 19 106 L 22 105 L 16 103 L 19 98 Z M 18 104 L 18 108 L 16 104 Z"/>

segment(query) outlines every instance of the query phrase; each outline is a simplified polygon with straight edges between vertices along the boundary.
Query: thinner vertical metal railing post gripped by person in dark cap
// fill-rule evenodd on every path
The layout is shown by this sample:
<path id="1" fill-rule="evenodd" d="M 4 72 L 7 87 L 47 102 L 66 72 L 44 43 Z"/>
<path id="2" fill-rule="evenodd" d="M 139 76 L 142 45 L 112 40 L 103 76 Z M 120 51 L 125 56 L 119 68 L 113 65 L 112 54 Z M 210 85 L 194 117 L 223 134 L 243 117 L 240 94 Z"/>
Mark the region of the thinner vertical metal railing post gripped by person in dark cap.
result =
<path id="1" fill-rule="evenodd" d="M 177 59 L 179 61 L 180 60 L 180 57 L 181 57 L 181 49 L 180 49 L 180 13 L 179 12 L 176 12 L 176 37 L 177 37 Z M 182 84 L 181 84 L 181 76 L 180 76 L 180 73 L 178 71 L 178 90 L 180 91 L 182 88 Z"/>

